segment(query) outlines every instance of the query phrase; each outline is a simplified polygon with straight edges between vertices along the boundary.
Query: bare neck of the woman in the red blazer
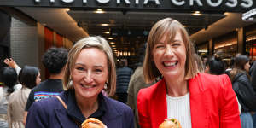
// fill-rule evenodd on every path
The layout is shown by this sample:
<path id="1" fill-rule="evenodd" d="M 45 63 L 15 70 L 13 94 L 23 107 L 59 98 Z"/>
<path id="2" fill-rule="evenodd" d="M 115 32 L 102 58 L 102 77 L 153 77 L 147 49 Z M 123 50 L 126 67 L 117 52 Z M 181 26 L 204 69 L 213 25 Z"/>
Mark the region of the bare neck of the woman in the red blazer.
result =
<path id="1" fill-rule="evenodd" d="M 189 92 L 188 81 L 179 78 L 179 79 L 165 79 L 166 80 L 166 90 L 167 95 L 178 97 L 184 96 Z"/>

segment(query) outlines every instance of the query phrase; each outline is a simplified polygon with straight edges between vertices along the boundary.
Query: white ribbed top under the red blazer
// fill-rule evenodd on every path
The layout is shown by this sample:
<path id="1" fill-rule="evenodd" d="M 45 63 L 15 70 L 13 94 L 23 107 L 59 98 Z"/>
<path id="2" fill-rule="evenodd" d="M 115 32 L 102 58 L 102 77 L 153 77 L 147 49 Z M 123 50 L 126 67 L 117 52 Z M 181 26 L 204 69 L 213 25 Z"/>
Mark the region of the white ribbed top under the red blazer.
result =
<path id="1" fill-rule="evenodd" d="M 185 96 L 166 95 L 167 118 L 177 119 L 184 128 L 191 128 L 189 93 Z"/>

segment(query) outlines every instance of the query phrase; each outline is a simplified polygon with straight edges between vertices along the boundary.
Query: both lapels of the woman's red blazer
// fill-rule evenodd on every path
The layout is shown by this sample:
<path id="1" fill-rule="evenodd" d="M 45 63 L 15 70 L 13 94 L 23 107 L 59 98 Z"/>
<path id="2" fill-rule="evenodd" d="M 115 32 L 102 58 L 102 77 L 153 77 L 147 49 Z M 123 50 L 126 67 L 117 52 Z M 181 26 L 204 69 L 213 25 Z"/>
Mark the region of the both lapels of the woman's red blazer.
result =
<path id="1" fill-rule="evenodd" d="M 203 79 L 200 79 L 201 73 L 198 73 L 195 78 L 189 79 L 189 100 L 190 100 L 190 113 L 192 127 L 208 127 L 209 116 L 209 103 L 207 103 L 208 96 L 206 95 L 206 88 L 203 84 L 206 84 Z M 156 92 L 152 100 L 152 105 L 149 110 L 154 110 L 154 115 L 151 115 L 151 120 L 155 120 L 157 126 L 167 118 L 167 103 L 166 103 L 166 81 L 160 80 L 157 83 Z M 158 117 L 158 118 L 155 118 Z M 158 127 L 158 126 L 157 126 Z"/>

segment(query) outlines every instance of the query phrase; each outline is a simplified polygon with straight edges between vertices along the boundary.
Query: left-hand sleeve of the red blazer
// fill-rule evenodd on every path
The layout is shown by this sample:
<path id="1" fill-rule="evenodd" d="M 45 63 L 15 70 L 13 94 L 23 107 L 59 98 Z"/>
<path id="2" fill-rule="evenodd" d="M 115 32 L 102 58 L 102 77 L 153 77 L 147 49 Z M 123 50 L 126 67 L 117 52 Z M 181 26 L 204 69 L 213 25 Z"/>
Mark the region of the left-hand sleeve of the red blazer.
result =
<path id="1" fill-rule="evenodd" d="M 145 98 L 145 93 L 143 93 L 143 90 L 140 90 L 137 96 L 137 110 L 138 110 L 138 116 L 139 116 L 139 124 L 141 128 L 150 128 L 151 121 L 150 117 L 148 116 L 148 102 Z"/>

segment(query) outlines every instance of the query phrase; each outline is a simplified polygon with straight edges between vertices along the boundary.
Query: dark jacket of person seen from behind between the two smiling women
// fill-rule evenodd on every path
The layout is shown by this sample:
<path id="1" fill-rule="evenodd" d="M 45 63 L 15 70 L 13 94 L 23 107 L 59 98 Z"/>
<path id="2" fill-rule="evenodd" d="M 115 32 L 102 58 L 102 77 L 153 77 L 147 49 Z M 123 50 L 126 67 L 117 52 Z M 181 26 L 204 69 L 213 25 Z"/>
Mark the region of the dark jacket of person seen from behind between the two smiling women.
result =
<path id="1" fill-rule="evenodd" d="M 133 71 L 129 67 L 119 67 L 116 70 L 117 74 L 117 84 L 116 92 L 117 93 L 127 93 L 128 85 Z"/>

